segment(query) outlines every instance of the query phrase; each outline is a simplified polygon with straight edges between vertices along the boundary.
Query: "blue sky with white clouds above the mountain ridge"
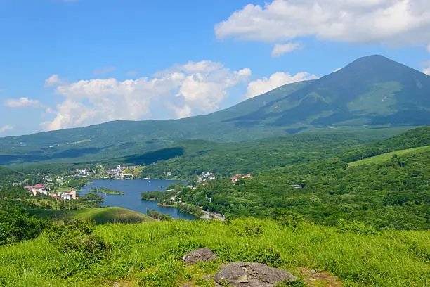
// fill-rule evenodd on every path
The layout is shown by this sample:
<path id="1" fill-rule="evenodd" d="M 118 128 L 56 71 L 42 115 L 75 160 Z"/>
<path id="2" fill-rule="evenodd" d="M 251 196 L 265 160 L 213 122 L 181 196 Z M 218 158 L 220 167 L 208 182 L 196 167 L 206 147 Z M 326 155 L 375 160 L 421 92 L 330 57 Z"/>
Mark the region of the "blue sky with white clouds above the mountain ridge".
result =
<path id="1" fill-rule="evenodd" d="M 210 113 L 375 53 L 429 72 L 429 2 L 0 0 L 0 136 Z"/>

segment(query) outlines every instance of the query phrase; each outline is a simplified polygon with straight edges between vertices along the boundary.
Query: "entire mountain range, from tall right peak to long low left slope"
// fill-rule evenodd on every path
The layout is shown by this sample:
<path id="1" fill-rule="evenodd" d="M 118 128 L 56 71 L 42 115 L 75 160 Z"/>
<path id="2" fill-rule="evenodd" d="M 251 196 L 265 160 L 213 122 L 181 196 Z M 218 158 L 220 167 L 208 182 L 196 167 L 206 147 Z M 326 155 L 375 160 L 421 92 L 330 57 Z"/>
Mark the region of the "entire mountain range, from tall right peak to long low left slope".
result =
<path id="1" fill-rule="evenodd" d="M 430 124 L 430 77 L 367 56 L 317 80 L 181 120 L 115 121 L 0 139 L 0 165 L 82 162 L 145 153 L 187 139 L 250 141 L 327 127 Z"/>

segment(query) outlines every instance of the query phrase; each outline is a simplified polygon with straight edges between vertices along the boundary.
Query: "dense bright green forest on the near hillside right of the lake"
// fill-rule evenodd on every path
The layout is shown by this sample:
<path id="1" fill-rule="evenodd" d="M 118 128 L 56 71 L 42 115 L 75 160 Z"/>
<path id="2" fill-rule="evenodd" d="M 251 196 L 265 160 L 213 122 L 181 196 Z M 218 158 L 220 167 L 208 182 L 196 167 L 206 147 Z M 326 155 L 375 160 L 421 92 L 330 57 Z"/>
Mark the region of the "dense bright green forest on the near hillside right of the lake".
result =
<path id="1" fill-rule="evenodd" d="M 426 152 L 358 167 L 322 160 L 282 167 L 243 185 L 228 179 L 211 181 L 184 189 L 181 197 L 227 217 L 273 217 L 292 226 L 298 220 L 294 215 L 304 215 L 319 224 L 337 225 L 345 219 L 376 229 L 429 229 L 429 169 Z M 303 188 L 294 189 L 292 184 Z"/>

